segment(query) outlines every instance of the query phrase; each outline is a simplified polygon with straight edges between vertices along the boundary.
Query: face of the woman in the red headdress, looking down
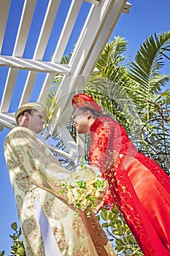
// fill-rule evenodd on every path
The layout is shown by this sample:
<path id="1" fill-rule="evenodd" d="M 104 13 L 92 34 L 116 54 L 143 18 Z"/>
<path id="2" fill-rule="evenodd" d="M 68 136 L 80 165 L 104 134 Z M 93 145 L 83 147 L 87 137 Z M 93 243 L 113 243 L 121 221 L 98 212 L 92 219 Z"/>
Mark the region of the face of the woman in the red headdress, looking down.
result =
<path id="1" fill-rule="evenodd" d="M 85 112 L 77 108 L 73 114 L 73 125 L 78 133 L 90 132 L 90 111 Z"/>

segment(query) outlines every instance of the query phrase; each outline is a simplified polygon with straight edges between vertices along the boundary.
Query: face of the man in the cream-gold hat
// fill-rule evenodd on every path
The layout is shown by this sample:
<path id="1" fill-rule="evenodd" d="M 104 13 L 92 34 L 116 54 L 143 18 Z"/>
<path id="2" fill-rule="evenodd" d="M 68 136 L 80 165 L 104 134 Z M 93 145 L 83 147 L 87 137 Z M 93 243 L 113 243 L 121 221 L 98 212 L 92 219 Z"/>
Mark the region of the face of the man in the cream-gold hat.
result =
<path id="1" fill-rule="evenodd" d="M 34 111 L 31 113 L 31 115 L 29 115 L 28 129 L 31 129 L 36 133 L 42 132 L 45 123 L 46 121 L 44 114 L 39 111 Z"/>

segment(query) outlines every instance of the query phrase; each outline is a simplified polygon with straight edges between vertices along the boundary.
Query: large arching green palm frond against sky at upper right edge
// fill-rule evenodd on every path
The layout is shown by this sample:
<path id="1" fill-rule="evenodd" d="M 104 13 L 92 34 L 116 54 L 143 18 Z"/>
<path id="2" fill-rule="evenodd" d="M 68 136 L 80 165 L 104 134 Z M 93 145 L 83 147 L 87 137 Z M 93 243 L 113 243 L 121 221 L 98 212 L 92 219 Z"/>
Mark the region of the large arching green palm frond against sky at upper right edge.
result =
<path id="1" fill-rule="evenodd" d="M 166 52 L 170 50 L 170 32 L 155 34 L 155 39 L 150 36 L 136 53 L 135 61 L 130 64 L 129 76 L 146 89 L 147 96 L 150 92 L 161 89 L 165 83 L 154 83 L 159 71 L 164 65 L 163 57 L 168 58 Z M 165 77 L 166 75 L 164 75 Z M 169 76 L 166 76 L 166 82 Z M 154 86 L 155 85 L 155 86 Z"/>

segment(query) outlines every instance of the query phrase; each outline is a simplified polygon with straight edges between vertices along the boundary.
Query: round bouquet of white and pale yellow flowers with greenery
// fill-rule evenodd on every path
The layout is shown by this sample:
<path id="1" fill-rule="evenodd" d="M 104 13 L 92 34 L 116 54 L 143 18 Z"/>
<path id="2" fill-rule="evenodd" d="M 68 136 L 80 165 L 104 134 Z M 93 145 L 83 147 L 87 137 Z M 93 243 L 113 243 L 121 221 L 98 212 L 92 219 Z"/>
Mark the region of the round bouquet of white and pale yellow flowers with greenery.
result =
<path id="1" fill-rule="evenodd" d="M 96 209 L 98 203 L 107 192 L 107 181 L 102 178 L 97 167 L 80 165 L 72 173 L 68 181 L 62 182 L 63 190 L 68 197 L 68 203 L 72 203 L 77 209 L 86 211 L 90 217 L 90 211 Z M 78 214 L 79 211 L 76 211 Z"/>

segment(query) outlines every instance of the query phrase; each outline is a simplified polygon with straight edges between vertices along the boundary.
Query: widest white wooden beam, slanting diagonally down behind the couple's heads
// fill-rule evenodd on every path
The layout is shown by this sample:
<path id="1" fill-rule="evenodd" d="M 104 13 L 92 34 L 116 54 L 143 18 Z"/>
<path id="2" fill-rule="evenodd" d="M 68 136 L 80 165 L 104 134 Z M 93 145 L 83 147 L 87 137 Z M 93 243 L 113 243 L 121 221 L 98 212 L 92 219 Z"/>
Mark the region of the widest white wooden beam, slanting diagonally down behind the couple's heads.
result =
<path id="1" fill-rule="evenodd" d="M 63 81 L 56 94 L 56 107 L 54 116 L 56 116 L 56 125 L 58 125 L 63 117 L 63 110 L 68 109 L 65 120 L 70 118 L 71 114 L 71 100 L 70 97 L 79 86 L 77 86 L 77 79 L 82 75 L 84 79 L 88 80 L 88 75 L 93 72 L 96 61 L 101 55 L 102 50 L 107 44 L 112 31 L 117 23 L 117 19 L 125 6 L 125 0 L 105 0 L 101 1 L 99 6 L 92 6 L 85 22 L 85 25 L 77 41 L 77 45 L 69 61 L 71 66 L 71 75 L 69 78 L 63 78 Z M 95 26 L 94 26 L 95 24 Z M 69 80 L 69 91 L 68 91 Z M 85 85 L 85 82 L 84 82 Z M 82 85 L 80 84 L 80 90 Z M 63 102 L 66 102 L 63 105 Z M 56 130 L 56 127 L 54 131 Z"/>

